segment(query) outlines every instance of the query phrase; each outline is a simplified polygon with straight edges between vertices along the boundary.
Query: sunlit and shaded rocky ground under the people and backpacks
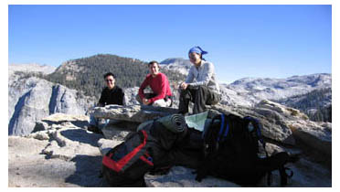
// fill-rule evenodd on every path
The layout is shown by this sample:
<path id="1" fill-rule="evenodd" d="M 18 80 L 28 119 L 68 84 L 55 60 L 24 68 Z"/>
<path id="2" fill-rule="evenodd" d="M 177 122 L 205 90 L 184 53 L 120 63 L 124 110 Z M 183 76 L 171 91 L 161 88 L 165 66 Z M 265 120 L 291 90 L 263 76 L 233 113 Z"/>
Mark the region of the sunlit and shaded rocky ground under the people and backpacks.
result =
<path id="1" fill-rule="evenodd" d="M 288 165 L 294 176 L 287 187 L 332 187 L 331 123 L 310 122 L 302 113 L 270 101 L 261 102 L 257 110 L 223 106 L 215 110 L 258 117 L 263 123 L 263 134 L 271 141 L 267 145 L 270 154 L 282 150 L 301 154 L 300 161 Z M 104 135 L 86 130 L 88 116 L 61 113 L 48 116 L 36 123 L 35 133 L 8 136 L 8 187 L 110 187 L 100 177 L 101 155 L 122 143 L 123 136 L 139 123 L 166 112 L 151 112 L 139 105 L 130 109 L 97 108 L 96 116 L 125 118 L 121 120 L 125 125 L 108 126 Z M 127 124 L 130 129 L 122 131 Z M 144 178 L 148 187 L 240 187 L 212 176 L 199 183 L 193 170 L 183 166 L 173 167 L 164 176 L 146 174 Z M 278 173 L 274 172 L 271 187 L 279 187 L 278 181 Z M 259 187 L 267 187 L 265 181 Z"/>

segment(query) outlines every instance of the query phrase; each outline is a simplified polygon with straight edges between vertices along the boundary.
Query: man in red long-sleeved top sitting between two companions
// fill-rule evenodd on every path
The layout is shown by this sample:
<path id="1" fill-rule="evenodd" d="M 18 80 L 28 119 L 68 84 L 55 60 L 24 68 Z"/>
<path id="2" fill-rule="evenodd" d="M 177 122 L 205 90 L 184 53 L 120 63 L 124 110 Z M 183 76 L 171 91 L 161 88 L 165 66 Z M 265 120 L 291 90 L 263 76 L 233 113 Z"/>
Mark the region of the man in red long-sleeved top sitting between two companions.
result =
<path id="1" fill-rule="evenodd" d="M 164 73 L 159 71 L 157 61 L 151 61 L 148 64 L 150 73 L 147 74 L 141 87 L 139 88 L 136 100 L 144 105 L 153 105 L 157 107 L 170 107 L 172 105 L 172 93 L 169 80 Z M 150 86 L 153 93 L 144 93 L 144 89 Z"/>

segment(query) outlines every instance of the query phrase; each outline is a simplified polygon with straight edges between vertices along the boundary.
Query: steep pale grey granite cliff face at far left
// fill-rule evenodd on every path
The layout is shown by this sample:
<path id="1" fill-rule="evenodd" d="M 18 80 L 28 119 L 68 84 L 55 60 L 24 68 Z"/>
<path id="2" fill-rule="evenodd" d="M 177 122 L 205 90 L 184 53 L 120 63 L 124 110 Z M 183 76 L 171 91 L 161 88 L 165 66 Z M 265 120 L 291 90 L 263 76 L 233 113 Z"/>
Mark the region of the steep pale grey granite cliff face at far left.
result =
<path id="1" fill-rule="evenodd" d="M 12 76 L 8 82 L 8 134 L 31 133 L 37 121 L 56 112 L 85 114 L 93 99 L 35 77 Z"/>

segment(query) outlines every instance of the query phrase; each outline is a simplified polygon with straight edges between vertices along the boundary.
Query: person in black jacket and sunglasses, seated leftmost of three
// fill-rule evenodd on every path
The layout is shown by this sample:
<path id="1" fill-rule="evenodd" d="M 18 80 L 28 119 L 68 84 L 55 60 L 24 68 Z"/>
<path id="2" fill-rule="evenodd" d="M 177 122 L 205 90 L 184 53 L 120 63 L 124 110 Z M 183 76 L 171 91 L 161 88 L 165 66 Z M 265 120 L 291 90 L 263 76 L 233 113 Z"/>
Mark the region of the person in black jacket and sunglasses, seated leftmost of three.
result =
<path id="1" fill-rule="evenodd" d="M 118 104 L 123 105 L 124 100 L 124 92 L 122 88 L 115 85 L 115 76 L 112 72 L 108 72 L 104 75 L 104 80 L 106 82 L 106 87 L 101 91 L 101 98 L 98 102 L 98 107 L 103 107 L 109 104 Z M 105 124 L 109 123 L 109 119 L 104 120 Z M 90 115 L 90 126 L 88 130 L 93 133 L 102 133 L 102 127 L 99 126 L 99 119 L 95 118 L 93 115 Z M 101 129 L 99 128 L 101 127 Z"/>

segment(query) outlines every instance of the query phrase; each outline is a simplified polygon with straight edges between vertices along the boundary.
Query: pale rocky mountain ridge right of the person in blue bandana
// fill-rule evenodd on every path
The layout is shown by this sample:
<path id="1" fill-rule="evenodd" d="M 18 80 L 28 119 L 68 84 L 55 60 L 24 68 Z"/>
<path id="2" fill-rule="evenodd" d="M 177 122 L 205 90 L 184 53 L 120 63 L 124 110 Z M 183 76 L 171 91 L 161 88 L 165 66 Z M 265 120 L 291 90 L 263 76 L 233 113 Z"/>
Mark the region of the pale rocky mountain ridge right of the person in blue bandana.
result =
<path id="1" fill-rule="evenodd" d="M 332 75 L 317 73 L 287 79 L 243 78 L 222 90 L 234 94 L 243 103 L 254 105 L 271 100 L 304 112 L 313 121 L 332 122 Z"/>

